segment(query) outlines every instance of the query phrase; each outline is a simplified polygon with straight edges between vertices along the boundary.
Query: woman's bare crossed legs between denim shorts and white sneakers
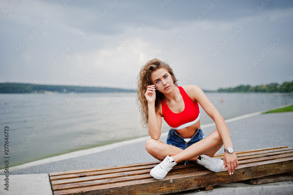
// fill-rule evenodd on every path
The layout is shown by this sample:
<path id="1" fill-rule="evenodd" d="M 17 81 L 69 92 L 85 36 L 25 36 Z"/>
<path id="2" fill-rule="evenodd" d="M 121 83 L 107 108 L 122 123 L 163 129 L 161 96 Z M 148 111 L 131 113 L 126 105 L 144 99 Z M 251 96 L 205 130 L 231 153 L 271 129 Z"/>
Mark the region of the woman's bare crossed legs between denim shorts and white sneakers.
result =
<path id="1" fill-rule="evenodd" d="M 179 163 L 183 160 L 196 161 L 197 157 L 202 154 L 213 157 L 222 145 L 222 138 L 216 129 L 209 136 L 194 143 L 185 150 L 154 139 L 147 140 L 145 147 L 150 155 L 160 161 L 163 161 L 163 159 L 169 155 L 172 156 L 173 159 L 175 157 L 174 161 Z"/>

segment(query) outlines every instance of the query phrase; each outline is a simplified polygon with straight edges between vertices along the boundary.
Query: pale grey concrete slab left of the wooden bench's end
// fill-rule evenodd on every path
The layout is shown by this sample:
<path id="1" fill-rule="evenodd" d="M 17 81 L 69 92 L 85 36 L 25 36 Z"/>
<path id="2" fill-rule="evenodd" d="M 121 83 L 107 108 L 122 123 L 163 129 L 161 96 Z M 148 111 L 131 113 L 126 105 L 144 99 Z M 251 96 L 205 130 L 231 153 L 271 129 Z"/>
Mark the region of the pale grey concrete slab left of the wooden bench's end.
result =
<path id="1" fill-rule="evenodd" d="M 0 186 L 1 195 L 53 195 L 48 174 L 0 175 Z"/>

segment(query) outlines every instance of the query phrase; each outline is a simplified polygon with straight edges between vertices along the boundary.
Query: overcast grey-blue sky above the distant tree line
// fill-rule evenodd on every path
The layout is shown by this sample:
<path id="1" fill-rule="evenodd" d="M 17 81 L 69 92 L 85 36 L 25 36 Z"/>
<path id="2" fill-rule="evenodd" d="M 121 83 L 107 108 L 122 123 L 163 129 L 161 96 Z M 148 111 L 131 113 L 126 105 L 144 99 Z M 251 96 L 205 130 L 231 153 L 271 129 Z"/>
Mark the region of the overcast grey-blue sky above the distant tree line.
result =
<path id="1" fill-rule="evenodd" d="M 181 86 L 292 79 L 293 1 L 1 0 L 0 9 L 0 82 L 127 88 L 157 57 Z"/>

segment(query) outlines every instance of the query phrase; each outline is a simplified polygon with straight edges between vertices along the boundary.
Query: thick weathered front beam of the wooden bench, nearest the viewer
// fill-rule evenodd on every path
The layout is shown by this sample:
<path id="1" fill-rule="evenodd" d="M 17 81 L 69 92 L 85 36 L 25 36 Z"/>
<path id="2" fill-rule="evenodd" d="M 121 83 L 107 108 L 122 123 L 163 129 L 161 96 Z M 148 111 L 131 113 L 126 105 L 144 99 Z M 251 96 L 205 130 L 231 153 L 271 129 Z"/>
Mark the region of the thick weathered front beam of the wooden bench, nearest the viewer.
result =
<path id="1" fill-rule="evenodd" d="M 280 162 L 282 164 L 280 164 Z M 106 184 L 100 186 L 82 187 L 79 189 L 69 189 L 54 191 L 54 195 L 64 194 L 166 194 L 196 189 L 201 187 L 213 186 L 229 182 L 237 182 L 253 177 L 262 177 L 266 175 L 287 172 L 293 170 L 293 157 L 285 159 L 270 160 L 266 162 L 257 162 L 246 165 L 240 165 L 234 174 L 229 176 L 226 170 L 215 173 L 211 171 L 200 171 L 192 173 L 183 173 L 179 175 L 168 174 L 162 180 L 154 178 L 122 182 L 115 184 Z M 217 178 L 217 179 L 214 179 Z"/>

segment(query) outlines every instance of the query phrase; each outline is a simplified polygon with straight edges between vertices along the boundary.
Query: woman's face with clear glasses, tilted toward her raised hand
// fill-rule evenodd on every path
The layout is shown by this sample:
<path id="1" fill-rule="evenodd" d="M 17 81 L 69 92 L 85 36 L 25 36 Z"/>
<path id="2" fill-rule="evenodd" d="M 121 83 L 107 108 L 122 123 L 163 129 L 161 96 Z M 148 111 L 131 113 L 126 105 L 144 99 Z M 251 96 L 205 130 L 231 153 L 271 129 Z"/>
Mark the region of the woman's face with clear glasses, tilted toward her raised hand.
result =
<path id="1" fill-rule="evenodd" d="M 151 73 L 151 82 L 156 89 L 163 92 L 174 86 L 171 74 L 165 68 L 159 68 Z"/>

